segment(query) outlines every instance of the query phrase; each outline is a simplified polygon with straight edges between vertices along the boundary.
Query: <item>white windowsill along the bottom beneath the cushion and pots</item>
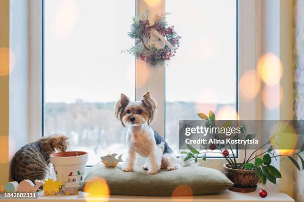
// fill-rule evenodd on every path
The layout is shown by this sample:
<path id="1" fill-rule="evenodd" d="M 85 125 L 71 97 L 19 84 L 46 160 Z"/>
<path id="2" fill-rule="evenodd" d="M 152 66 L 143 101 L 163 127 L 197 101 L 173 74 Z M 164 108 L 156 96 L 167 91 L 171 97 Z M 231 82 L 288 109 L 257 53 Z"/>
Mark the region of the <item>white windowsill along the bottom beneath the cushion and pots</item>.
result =
<path id="1" fill-rule="evenodd" d="M 192 198 L 192 197 L 191 197 Z M 105 202 L 182 202 L 189 201 L 189 197 L 178 197 L 172 200 L 171 197 L 145 197 L 145 196 L 118 196 L 112 195 L 108 199 L 90 199 L 92 201 L 105 201 Z M 4 197 L 0 195 L 0 201 L 8 202 L 20 202 L 20 199 L 9 199 L 3 200 Z M 83 201 L 85 202 L 85 193 L 79 192 L 79 195 L 74 196 L 65 196 L 64 193 L 57 194 L 55 196 L 43 196 L 43 192 L 38 193 L 38 200 L 27 200 L 35 202 L 54 202 L 54 201 L 65 201 L 65 202 L 74 202 L 74 201 Z M 224 191 L 220 194 L 214 195 L 204 195 L 204 196 L 193 196 L 192 202 L 295 202 L 291 197 L 284 193 L 276 193 L 268 191 L 268 196 L 264 199 L 259 197 L 258 190 L 252 193 L 237 193 L 231 191 Z"/>

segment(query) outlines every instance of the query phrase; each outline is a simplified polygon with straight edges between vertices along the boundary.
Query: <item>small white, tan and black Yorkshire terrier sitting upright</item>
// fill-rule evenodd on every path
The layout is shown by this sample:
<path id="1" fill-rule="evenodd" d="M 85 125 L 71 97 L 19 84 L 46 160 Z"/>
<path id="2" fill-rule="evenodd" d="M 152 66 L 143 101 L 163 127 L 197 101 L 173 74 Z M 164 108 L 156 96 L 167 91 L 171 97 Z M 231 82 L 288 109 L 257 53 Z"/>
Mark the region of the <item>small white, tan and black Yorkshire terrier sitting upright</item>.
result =
<path id="1" fill-rule="evenodd" d="M 156 102 L 150 93 L 143 95 L 141 101 L 130 101 L 121 94 L 116 103 L 115 115 L 124 127 L 128 126 L 128 154 L 122 170 L 132 172 L 136 153 L 146 158 L 142 166 L 148 174 L 156 174 L 160 169 L 175 170 L 178 167 L 176 156 L 168 143 L 151 127 L 156 114 Z"/>

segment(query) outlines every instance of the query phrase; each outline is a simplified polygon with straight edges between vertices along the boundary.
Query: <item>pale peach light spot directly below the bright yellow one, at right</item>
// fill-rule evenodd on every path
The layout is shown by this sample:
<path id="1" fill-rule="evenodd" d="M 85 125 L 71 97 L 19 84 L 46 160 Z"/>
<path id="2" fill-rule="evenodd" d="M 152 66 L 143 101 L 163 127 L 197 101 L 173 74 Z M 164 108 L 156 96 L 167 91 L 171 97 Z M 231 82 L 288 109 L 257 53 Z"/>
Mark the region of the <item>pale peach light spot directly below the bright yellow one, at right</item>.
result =
<path id="1" fill-rule="evenodd" d="M 283 100 L 283 89 L 281 86 L 264 86 L 262 91 L 262 101 L 264 105 L 273 110 L 279 107 Z"/>

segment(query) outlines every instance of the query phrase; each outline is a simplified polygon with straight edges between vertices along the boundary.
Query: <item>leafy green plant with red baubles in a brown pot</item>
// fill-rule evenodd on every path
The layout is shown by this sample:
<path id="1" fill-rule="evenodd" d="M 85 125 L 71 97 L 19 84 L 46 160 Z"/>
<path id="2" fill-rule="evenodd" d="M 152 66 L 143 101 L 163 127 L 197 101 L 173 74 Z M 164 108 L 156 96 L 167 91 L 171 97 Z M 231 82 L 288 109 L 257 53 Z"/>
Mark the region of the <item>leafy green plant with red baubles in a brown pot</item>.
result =
<path id="1" fill-rule="evenodd" d="M 207 121 L 206 126 L 208 123 L 209 123 L 208 126 L 210 126 L 210 123 L 211 125 L 215 124 L 216 117 L 214 112 L 212 111 L 209 112 L 209 116 L 207 116 L 204 113 L 198 113 L 198 116 L 201 119 Z M 255 134 L 247 134 L 246 128 L 243 124 L 241 124 L 240 129 L 241 129 L 240 130 L 241 135 L 243 135 L 244 139 L 246 140 L 254 139 Z M 284 153 L 275 154 L 275 151 L 273 150 L 273 147 L 270 144 L 271 146 L 269 147 L 268 150 L 263 150 L 263 152 L 261 152 L 260 154 L 254 155 L 258 151 L 262 150 L 262 148 L 267 146 L 268 144 L 270 144 L 270 141 L 263 144 L 258 149 L 254 150 L 249 155 L 249 157 L 247 157 L 247 145 L 245 145 L 245 155 L 244 155 L 244 160 L 242 162 L 236 161 L 237 158 L 235 157 L 235 154 L 229 144 L 228 144 L 229 151 L 227 149 L 221 149 L 220 147 L 217 147 L 216 144 L 211 144 L 209 145 L 209 147 L 205 146 L 205 148 L 201 150 L 196 150 L 191 145 L 187 144 L 186 146 L 190 151 L 189 152 L 183 151 L 181 153 L 187 155 L 184 158 L 184 161 L 189 161 L 194 159 L 195 162 L 197 162 L 199 158 L 206 160 L 207 153 L 209 152 L 222 154 L 227 160 L 227 163 L 224 164 L 226 175 L 234 183 L 234 186 L 229 189 L 236 192 L 254 192 L 257 187 L 257 182 L 261 182 L 265 184 L 266 181 L 268 180 L 276 184 L 277 182 L 276 178 L 281 178 L 280 171 L 271 165 L 272 159 L 277 160 L 277 157 L 279 156 L 286 156 L 293 162 L 293 164 L 298 168 L 298 170 L 301 170 L 300 165 L 293 157 L 294 155 L 297 155 L 302 161 L 302 170 L 304 169 L 304 160 L 299 155 L 301 152 L 304 152 L 304 144 L 300 150 L 294 150 L 292 153 L 286 153 L 286 154 Z M 265 194 L 265 192 L 263 193 Z"/>

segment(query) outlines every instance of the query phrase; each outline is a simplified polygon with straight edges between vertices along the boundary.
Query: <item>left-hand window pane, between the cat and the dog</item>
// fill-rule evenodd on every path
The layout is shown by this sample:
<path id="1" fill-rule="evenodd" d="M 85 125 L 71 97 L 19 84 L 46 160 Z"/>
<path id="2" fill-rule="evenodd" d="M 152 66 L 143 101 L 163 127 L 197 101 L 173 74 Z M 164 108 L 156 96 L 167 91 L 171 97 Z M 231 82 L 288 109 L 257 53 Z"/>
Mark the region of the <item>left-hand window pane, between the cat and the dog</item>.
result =
<path id="1" fill-rule="evenodd" d="M 135 0 L 45 0 L 44 133 L 70 137 L 88 165 L 126 150 L 114 105 L 135 99 L 135 60 L 120 52 L 134 15 Z"/>

